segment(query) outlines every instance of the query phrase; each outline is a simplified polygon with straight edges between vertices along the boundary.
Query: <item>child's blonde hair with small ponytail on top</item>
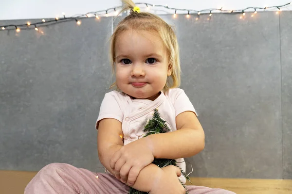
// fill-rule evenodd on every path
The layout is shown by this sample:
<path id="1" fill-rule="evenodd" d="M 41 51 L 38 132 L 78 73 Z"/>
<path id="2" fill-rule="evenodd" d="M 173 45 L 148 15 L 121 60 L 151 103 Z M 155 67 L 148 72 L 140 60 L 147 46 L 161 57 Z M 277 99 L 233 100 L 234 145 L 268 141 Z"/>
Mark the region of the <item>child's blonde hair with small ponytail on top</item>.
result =
<path id="1" fill-rule="evenodd" d="M 135 3 L 132 0 L 122 1 L 124 9 L 121 12 L 130 9 L 130 15 L 126 16 L 121 22 L 119 22 L 110 38 L 110 62 L 112 75 L 115 71 L 115 42 L 118 35 L 128 30 L 152 31 L 157 32 L 161 37 L 169 57 L 169 68 L 172 70 L 171 75 L 167 77 L 163 90 L 164 92 L 167 92 L 170 88 L 179 87 L 181 84 L 179 44 L 171 26 L 168 25 L 162 18 L 155 16 L 154 14 L 147 12 L 138 13 L 133 11 Z M 110 86 L 110 88 L 113 87 L 116 87 L 116 89 L 119 90 L 116 81 Z"/>

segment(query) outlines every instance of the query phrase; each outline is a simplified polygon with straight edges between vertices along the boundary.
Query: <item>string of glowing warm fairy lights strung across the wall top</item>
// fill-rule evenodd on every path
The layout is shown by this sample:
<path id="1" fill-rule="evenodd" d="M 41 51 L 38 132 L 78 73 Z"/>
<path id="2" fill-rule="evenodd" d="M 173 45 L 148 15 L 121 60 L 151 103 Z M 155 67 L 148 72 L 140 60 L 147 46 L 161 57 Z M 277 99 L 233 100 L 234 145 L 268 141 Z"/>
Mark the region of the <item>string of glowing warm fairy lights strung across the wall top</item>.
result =
<path id="1" fill-rule="evenodd" d="M 276 14 L 280 14 L 280 12 L 282 11 L 282 8 L 286 7 L 288 5 L 291 5 L 291 3 L 292 2 L 283 4 L 283 5 L 278 5 L 278 6 L 271 6 L 271 7 L 268 7 L 268 6 L 265 6 L 265 7 L 247 7 L 245 9 L 240 9 L 240 10 L 223 10 L 223 7 L 220 7 L 220 8 L 217 8 L 217 9 L 212 8 L 212 9 L 205 9 L 205 10 L 191 10 L 191 9 L 186 10 L 186 9 L 179 9 L 179 8 L 169 8 L 168 5 L 166 5 L 166 6 L 165 5 L 155 5 L 155 4 L 150 4 L 150 3 L 136 3 L 136 5 L 139 5 L 139 4 L 146 5 L 147 9 L 149 9 L 149 7 L 151 7 L 151 6 L 152 7 L 155 7 L 155 6 L 158 7 L 159 6 L 159 7 L 164 7 L 165 9 L 168 9 L 168 10 L 174 10 L 175 11 L 175 13 L 173 15 L 174 18 L 177 17 L 177 13 L 176 13 L 177 11 L 188 11 L 187 15 L 186 15 L 187 18 L 190 17 L 189 12 L 197 13 L 198 16 L 203 15 L 203 14 L 208 14 L 209 16 L 212 16 L 213 13 L 214 13 L 213 11 L 219 11 L 219 13 L 234 13 L 234 14 L 242 13 L 242 15 L 240 16 L 240 18 L 242 19 L 246 15 L 246 11 L 249 10 L 249 9 L 255 10 L 254 13 L 251 15 L 251 17 L 254 17 L 257 14 L 257 10 L 265 10 L 266 11 L 268 9 L 271 9 L 273 11 L 274 8 L 278 9 L 276 11 Z M 20 29 L 22 29 L 22 30 L 30 29 L 30 28 L 21 28 L 21 27 L 28 27 L 28 26 L 31 26 L 31 25 L 34 26 L 34 25 L 39 25 L 39 24 L 43 24 L 43 23 L 44 23 L 43 26 L 55 25 L 55 24 L 57 24 L 57 23 L 59 23 L 61 21 L 65 21 L 66 22 L 66 21 L 75 20 L 75 19 L 77 19 L 79 17 L 85 17 L 85 16 L 86 17 L 90 17 L 91 14 L 92 15 L 94 14 L 97 19 L 100 19 L 100 14 L 104 13 L 104 12 L 106 12 L 105 16 L 107 16 L 107 17 L 109 16 L 109 12 L 113 12 L 113 11 L 117 15 L 117 12 L 118 12 L 117 9 L 120 8 L 120 7 L 121 6 L 117 6 L 117 7 L 109 8 L 109 9 L 106 9 L 106 10 L 90 12 L 90 13 L 87 13 L 87 14 L 84 14 L 84 15 L 72 16 L 72 17 L 65 17 L 65 13 L 63 12 L 62 14 L 63 14 L 64 18 L 55 17 L 54 20 L 52 20 L 52 19 L 42 19 L 41 20 L 42 22 L 35 22 L 35 23 L 26 22 L 26 23 L 23 23 L 23 24 L 20 24 L 20 25 L 19 24 L 17 24 L 17 25 L 9 24 L 9 25 L 5 25 L 5 26 L 0 26 L 0 30 L 2 30 L 2 31 L 4 31 L 4 30 L 13 30 L 12 27 L 16 27 L 17 26 L 16 27 L 17 32 L 20 32 Z M 210 19 L 210 17 L 209 17 L 209 19 Z M 196 20 L 199 20 L 199 18 L 196 17 Z M 78 20 L 77 20 L 76 22 L 77 22 L 78 25 L 81 24 L 81 21 L 78 22 Z"/>

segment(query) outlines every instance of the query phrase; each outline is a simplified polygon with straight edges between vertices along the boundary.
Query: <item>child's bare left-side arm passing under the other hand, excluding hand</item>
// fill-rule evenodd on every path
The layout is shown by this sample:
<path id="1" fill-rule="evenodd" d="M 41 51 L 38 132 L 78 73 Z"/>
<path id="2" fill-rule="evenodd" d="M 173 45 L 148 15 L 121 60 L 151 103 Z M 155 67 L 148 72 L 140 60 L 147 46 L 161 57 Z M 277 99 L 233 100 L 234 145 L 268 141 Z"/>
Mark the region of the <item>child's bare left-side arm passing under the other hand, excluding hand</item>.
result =
<path id="1" fill-rule="evenodd" d="M 99 122 L 97 139 L 98 156 L 100 162 L 112 175 L 115 175 L 115 173 L 110 168 L 110 161 L 114 153 L 124 145 L 120 135 L 122 135 L 122 123 L 120 121 L 107 118 Z M 131 187 L 139 191 L 149 192 L 152 189 L 155 178 L 161 173 L 161 168 L 155 164 L 149 164 L 140 171 L 135 184 Z"/>

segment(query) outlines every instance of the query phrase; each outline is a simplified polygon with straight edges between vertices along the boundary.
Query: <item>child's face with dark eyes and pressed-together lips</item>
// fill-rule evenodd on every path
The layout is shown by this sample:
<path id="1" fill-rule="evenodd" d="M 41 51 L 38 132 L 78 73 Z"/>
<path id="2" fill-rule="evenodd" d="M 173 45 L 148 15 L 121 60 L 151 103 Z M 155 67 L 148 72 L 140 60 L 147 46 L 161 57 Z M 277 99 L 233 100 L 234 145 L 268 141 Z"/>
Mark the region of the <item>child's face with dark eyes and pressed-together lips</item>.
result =
<path id="1" fill-rule="evenodd" d="M 116 39 L 115 54 L 119 89 L 131 97 L 154 100 L 171 75 L 159 35 L 147 31 L 123 32 Z"/>

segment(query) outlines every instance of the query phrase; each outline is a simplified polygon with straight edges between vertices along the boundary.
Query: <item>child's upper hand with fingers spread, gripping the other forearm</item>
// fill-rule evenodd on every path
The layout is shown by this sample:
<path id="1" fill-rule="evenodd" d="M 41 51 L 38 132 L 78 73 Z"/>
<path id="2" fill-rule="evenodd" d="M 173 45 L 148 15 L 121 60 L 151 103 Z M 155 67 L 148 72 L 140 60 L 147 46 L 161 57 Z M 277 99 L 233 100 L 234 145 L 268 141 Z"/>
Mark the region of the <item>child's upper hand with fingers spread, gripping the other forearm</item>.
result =
<path id="1" fill-rule="evenodd" d="M 140 171 L 154 160 L 151 147 L 147 137 L 121 147 L 110 160 L 115 177 L 128 186 L 134 185 Z"/>

